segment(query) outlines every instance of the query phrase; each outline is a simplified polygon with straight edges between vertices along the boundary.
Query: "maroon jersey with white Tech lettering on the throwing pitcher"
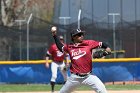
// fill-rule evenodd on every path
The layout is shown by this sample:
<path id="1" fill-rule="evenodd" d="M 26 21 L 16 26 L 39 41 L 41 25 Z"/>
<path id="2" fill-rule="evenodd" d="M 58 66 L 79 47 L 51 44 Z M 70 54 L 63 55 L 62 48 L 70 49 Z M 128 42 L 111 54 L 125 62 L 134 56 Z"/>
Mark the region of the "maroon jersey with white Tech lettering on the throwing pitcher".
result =
<path id="1" fill-rule="evenodd" d="M 71 58 L 70 71 L 73 73 L 87 73 L 92 70 L 92 49 L 100 47 L 102 42 L 83 40 L 79 45 L 70 44 L 63 50 L 68 52 Z"/>

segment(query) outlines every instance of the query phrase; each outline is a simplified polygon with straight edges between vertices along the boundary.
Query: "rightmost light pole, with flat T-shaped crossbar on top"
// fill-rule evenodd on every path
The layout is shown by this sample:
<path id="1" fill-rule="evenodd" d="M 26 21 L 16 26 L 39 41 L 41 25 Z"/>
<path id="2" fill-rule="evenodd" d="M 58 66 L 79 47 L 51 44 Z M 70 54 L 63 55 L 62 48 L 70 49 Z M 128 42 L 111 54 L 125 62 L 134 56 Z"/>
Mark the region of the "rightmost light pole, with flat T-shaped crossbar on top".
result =
<path id="1" fill-rule="evenodd" d="M 113 49 L 116 50 L 116 29 L 115 29 L 115 16 L 119 16 L 119 13 L 108 13 L 109 16 L 113 18 Z M 116 58 L 116 52 L 114 53 L 114 58 Z"/>

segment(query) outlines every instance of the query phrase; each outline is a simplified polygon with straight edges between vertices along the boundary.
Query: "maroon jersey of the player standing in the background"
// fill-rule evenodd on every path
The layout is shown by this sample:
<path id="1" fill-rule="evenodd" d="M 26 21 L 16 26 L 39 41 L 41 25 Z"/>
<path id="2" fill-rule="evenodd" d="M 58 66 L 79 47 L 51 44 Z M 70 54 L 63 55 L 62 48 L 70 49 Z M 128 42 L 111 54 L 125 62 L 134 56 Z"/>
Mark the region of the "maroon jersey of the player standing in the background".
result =
<path id="1" fill-rule="evenodd" d="M 52 56 L 52 60 L 55 62 L 63 62 L 64 60 L 64 53 L 60 52 L 56 46 L 56 44 L 52 44 L 47 54 Z"/>

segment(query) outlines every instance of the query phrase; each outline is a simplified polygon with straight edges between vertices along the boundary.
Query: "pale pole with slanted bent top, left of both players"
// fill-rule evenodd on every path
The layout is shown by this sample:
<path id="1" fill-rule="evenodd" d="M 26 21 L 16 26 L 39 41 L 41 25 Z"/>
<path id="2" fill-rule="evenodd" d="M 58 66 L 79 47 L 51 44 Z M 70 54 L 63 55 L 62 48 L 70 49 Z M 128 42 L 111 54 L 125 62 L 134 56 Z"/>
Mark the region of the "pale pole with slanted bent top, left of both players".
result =
<path id="1" fill-rule="evenodd" d="M 32 13 L 30 14 L 28 21 L 27 21 L 27 61 L 29 61 L 29 23 L 32 18 Z"/>

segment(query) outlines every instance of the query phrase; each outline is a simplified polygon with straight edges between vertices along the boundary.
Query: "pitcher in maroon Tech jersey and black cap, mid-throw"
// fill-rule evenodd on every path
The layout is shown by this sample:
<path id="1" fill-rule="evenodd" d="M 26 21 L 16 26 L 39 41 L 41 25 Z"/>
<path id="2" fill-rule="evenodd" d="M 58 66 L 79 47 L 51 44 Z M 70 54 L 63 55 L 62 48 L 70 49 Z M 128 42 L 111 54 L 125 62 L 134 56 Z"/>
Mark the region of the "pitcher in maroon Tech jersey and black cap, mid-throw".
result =
<path id="1" fill-rule="evenodd" d="M 88 85 L 96 93 L 107 93 L 101 80 L 92 75 L 92 49 L 103 48 L 102 56 L 111 54 L 111 49 L 107 44 L 95 40 L 84 40 L 84 31 L 74 29 L 71 32 L 72 44 L 63 45 L 57 37 L 57 28 L 51 29 L 55 43 L 60 51 L 66 51 L 70 55 L 71 76 L 60 89 L 59 93 L 71 93 L 77 86 Z M 94 55 L 94 54 L 93 54 Z"/>

